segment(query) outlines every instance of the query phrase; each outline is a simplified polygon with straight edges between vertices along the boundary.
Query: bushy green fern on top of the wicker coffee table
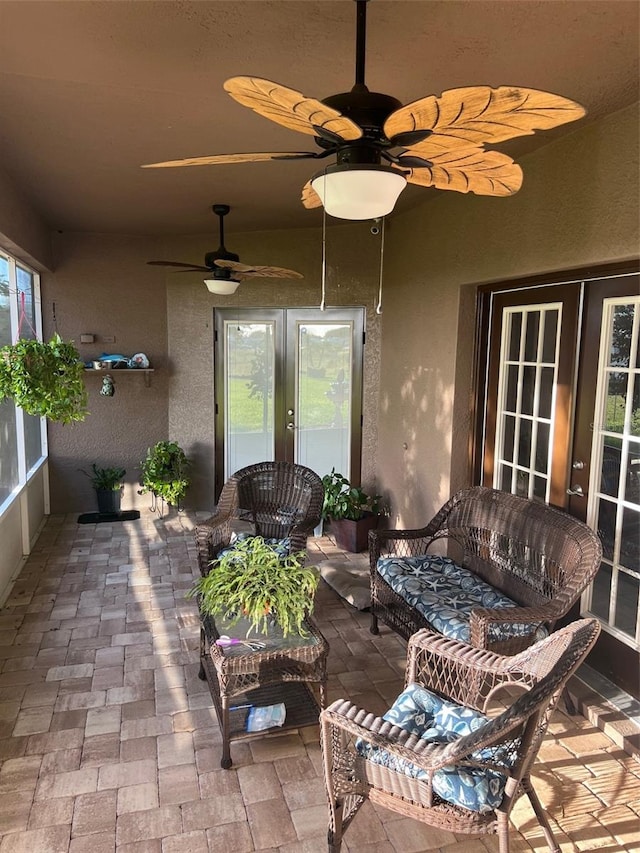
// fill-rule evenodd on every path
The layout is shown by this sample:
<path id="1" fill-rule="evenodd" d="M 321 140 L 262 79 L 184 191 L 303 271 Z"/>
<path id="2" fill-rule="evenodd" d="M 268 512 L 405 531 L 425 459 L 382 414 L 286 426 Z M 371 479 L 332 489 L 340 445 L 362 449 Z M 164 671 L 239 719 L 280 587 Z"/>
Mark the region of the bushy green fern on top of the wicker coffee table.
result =
<path id="1" fill-rule="evenodd" d="M 282 553 L 262 536 L 249 536 L 211 562 L 188 596 L 197 595 L 200 612 L 231 625 L 241 618 L 250 630 L 267 634 L 272 622 L 284 636 L 305 635 L 304 619 L 313 611 L 318 574 L 305 567 L 305 552 Z"/>

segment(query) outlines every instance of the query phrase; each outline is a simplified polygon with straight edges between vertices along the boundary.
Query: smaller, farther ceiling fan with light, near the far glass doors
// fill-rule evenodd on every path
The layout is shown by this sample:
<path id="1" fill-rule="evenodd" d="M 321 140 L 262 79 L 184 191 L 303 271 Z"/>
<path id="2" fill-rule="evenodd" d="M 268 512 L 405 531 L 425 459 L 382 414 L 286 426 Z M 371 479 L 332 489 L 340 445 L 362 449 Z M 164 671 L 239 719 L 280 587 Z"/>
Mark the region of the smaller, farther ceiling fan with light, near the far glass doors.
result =
<path id="1" fill-rule="evenodd" d="M 214 204 L 211 209 L 220 220 L 220 245 L 215 252 L 207 252 L 204 266 L 182 261 L 147 261 L 154 267 L 175 267 L 176 272 L 207 273 L 205 284 L 212 293 L 227 295 L 235 293 L 240 282 L 247 278 L 303 278 L 302 273 L 282 267 L 241 264 L 240 257 L 229 252 L 224 245 L 224 217 L 231 208 L 228 204 Z"/>

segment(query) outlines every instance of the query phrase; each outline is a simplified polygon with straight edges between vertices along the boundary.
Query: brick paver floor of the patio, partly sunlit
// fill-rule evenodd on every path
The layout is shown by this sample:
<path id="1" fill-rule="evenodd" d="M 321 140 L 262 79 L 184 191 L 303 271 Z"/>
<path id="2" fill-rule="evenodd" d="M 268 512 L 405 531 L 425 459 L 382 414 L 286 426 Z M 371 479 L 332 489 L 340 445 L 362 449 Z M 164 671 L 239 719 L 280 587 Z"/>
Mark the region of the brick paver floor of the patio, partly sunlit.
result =
<path id="1" fill-rule="evenodd" d="M 198 677 L 189 514 L 78 525 L 51 517 L 0 610 L 0 853 L 322 853 L 317 727 L 232 745 Z M 313 540 L 312 559 L 340 552 Z M 366 555 L 340 555 L 364 561 Z M 321 584 L 329 699 L 382 713 L 405 644 Z M 640 851 L 640 763 L 582 716 L 556 712 L 535 771 L 563 853 Z M 513 853 L 546 845 L 525 799 Z M 486 853 L 366 803 L 345 853 Z"/>

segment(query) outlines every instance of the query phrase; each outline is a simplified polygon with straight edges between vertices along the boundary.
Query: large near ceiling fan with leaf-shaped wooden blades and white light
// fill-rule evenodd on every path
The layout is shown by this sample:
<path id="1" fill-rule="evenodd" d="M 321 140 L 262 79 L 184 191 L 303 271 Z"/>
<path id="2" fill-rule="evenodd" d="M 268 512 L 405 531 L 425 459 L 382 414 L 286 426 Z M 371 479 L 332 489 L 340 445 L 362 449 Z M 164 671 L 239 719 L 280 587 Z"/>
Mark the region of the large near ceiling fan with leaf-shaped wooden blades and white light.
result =
<path id="1" fill-rule="evenodd" d="M 364 83 L 368 0 L 355 2 L 356 79 L 350 92 L 315 100 L 260 77 L 231 77 L 224 84 L 232 98 L 254 112 L 314 136 L 319 151 L 213 154 L 145 168 L 335 155 L 335 163 L 303 187 L 303 205 L 324 205 L 327 213 L 344 219 L 373 219 L 391 212 L 407 182 L 478 195 L 513 195 L 522 184 L 522 169 L 511 157 L 484 146 L 585 115 L 574 101 L 518 86 L 450 89 L 405 106 L 391 95 L 370 92 Z"/>

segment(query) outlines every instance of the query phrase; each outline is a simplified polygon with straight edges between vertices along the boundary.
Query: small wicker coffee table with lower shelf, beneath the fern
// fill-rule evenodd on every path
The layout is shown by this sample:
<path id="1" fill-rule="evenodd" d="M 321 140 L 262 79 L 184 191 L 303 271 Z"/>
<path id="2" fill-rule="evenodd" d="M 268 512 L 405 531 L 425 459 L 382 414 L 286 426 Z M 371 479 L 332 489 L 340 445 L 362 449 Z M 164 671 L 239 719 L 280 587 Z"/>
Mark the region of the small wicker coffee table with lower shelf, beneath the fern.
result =
<path id="1" fill-rule="evenodd" d="M 222 730 L 220 766 L 224 770 L 231 767 L 232 741 L 318 723 L 320 709 L 326 705 L 329 644 L 313 619 L 308 618 L 305 626 L 306 637 L 289 635 L 284 638 L 277 628 L 268 636 L 251 634 L 250 639 L 265 643 L 265 648 L 254 650 L 241 644 L 216 644 L 216 640 L 225 635 L 244 640 L 248 622 L 240 620 L 229 626 L 221 621 L 217 625 L 210 616 L 201 617 L 199 676 L 209 685 Z M 313 684 L 319 686 L 319 703 Z M 251 707 L 280 702 L 286 707 L 283 726 L 247 731 Z"/>

